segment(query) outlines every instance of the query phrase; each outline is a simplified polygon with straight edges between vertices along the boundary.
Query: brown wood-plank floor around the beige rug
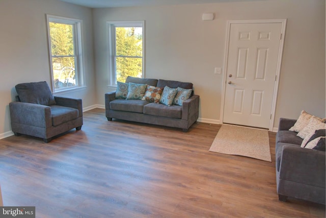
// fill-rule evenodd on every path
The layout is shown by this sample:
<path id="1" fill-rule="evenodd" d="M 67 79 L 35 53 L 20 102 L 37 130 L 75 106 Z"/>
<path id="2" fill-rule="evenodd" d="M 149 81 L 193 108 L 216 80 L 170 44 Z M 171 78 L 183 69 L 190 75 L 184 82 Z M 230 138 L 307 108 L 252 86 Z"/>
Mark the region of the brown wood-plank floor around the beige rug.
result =
<path id="1" fill-rule="evenodd" d="M 82 130 L 44 143 L 0 140 L 5 206 L 36 217 L 325 217 L 325 206 L 278 201 L 272 162 L 209 152 L 221 125 L 180 129 L 84 113 Z"/>

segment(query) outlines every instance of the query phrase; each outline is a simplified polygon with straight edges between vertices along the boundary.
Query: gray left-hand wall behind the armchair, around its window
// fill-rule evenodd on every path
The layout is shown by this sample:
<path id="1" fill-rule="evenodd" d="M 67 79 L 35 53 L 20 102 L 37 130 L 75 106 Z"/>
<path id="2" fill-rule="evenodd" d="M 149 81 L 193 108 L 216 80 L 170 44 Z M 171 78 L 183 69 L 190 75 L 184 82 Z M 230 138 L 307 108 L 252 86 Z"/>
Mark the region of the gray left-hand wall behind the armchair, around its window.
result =
<path id="1" fill-rule="evenodd" d="M 87 87 L 62 95 L 83 99 L 84 107 L 97 103 L 92 9 L 56 0 L 0 0 L 0 138 L 12 134 L 9 103 L 14 101 L 15 85 L 38 81 L 51 84 L 45 14 L 83 20 Z"/>

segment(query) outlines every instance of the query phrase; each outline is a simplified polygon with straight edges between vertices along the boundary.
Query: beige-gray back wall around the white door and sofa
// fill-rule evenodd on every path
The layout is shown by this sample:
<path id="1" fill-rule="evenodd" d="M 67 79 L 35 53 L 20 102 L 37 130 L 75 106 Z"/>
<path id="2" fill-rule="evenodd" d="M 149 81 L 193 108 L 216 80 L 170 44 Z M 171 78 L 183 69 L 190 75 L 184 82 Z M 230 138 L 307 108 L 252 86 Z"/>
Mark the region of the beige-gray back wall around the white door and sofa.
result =
<path id="1" fill-rule="evenodd" d="M 203 13 L 213 12 L 213 21 Z M 147 78 L 194 83 L 200 95 L 200 119 L 219 123 L 222 114 L 226 21 L 287 18 L 274 127 L 280 117 L 297 118 L 301 110 L 325 116 L 325 1 L 271 0 L 177 6 L 94 9 L 97 99 L 107 87 L 106 21 L 145 20 Z"/>

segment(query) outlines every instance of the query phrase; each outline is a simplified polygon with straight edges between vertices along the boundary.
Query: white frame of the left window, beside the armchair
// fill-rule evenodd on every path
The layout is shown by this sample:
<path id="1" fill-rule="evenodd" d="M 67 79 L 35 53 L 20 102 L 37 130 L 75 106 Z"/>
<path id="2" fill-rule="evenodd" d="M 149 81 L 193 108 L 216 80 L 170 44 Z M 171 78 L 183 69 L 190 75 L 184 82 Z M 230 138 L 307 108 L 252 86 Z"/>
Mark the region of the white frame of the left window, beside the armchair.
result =
<path id="1" fill-rule="evenodd" d="M 59 93 L 59 92 L 67 92 L 71 90 L 76 90 L 80 88 L 84 88 L 84 61 L 83 61 L 83 20 L 81 19 L 74 19 L 69 17 L 62 17 L 56 15 L 46 14 L 46 24 L 47 24 L 47 36 L 48 36 L 48 52 L 49 52 L 49 63 L 50 63 L 50 76 L 51 76 L 51 85 L 52 85 L 52 92 Z M 64 88 L 55 88 L 55 80 L 53 75 L 53 63 L 52 58 L 56 56 L 52 56 L 51 51 L 51 37 L 50 37 L 50 28 L 49 22 L 57 22 L 63 23 L 67 25 L 72 25 L 73 27 L 73 43 L 74 43 L 74 56 L 75 57 L 75 80 L 76 85 Z M 61 56 L 59 56 L 61 57 Z M 68 56 L 67 56 L 68 57 Z"/>

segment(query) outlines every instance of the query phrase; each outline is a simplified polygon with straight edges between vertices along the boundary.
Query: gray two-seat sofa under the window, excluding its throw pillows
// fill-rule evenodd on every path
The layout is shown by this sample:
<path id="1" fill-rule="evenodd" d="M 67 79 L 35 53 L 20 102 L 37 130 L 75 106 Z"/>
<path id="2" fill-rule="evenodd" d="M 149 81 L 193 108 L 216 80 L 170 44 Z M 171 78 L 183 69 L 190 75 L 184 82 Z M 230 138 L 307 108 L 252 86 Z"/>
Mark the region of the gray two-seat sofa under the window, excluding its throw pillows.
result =
<path id="1" fill-rule="evenodd" d="M 128 77 L 126 83 L 193 89 L 192 83 L 161 79 Z M 183 102 L 182 106 L 166 106 L 144 100 L 116 99 L 116 91 L 112 91 L 105 93 L 105 116 L 110 121 L 112 118 L 117 118 L 133 122 L 176 127 L 187 132 L 199 116 L 199 95 L 193 93 L 189 99 Z"/>

